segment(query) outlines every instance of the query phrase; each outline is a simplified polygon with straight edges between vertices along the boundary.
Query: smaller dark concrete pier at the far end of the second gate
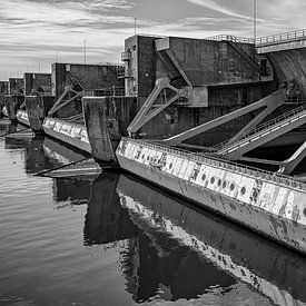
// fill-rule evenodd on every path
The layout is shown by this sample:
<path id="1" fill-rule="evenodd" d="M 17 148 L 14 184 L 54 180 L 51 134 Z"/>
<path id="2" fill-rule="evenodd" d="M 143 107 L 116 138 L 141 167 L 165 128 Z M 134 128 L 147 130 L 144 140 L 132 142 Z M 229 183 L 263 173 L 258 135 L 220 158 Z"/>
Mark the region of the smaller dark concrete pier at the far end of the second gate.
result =
<path id="1" fill-rule="evenodd" d="M 31 129 L 36 134 L 43 134 L 43 119 L 55 102 L 53 97 L 26 96 L 26 108 Z"/>

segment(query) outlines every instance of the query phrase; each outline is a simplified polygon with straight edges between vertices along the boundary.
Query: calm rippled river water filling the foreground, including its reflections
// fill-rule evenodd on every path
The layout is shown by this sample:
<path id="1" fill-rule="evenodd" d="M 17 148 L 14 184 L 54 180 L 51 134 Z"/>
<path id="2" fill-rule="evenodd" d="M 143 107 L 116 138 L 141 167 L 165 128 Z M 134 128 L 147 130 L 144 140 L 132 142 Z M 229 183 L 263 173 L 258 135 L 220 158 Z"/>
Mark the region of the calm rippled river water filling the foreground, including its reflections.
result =
<path id="1" fill-rule="evenodd" d="M 306 303 L 305 258 L 215 215 L 127 175 L 33 176 L 71 158 L 0 138 L 0 305 Z"/>

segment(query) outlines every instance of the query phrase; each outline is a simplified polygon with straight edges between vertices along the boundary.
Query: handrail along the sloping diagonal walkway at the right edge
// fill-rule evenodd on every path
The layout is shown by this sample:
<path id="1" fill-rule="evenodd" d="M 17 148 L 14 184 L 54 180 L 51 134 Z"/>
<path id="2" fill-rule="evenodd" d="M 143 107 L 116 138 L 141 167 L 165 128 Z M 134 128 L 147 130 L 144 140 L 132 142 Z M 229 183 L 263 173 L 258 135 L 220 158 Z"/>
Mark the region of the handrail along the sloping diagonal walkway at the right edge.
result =
<path id="1" fill-rule="evenodd" d="M 244 139 L 246 139 L 246 138 L 248 138 L 248 137 L 250 137 L 250 136 L 253 136 L 255 134 L 258 134 L 259 131 L 263 131 L 263 130 L 265 130 L 265 129 L 267 129 L 267 128 L 269 128 L 269 127 L 272 127 L 272 126 L 274 126 L 274 125 L 276 125 L 278 122 L 285 121 L 288 118 L 293 118 L 295 115 L 300 113 L 305 109 L 306 109 L 306 105 L 303 105 L 303 106 L 297 107 L 297 108 L 295 108 L 295 109 L 293 109 L 293 110 L 290 110 L 288 112 L 283 113 L 283 115 L 280 115 L 278 117 L 275 117 L 272 120 L 266 121 L 266 122 L 257 126 L 256 128 L 254 128 L 251 130 L 247 130 L 247 131 L 245 131 L 244 134 L 241 134 L 239 136 L 239 138 L 237 139 L 237 141 L 230 144 L 228 147 L 233 147 L 235 144 L 241 142 Z M 218 144 L 217 146 L 213 147 L 213 149 L 214 150 L 221 150 L 225 147 L 227 147 L 226 144 L 228 144 L 228 140 Z"/>

